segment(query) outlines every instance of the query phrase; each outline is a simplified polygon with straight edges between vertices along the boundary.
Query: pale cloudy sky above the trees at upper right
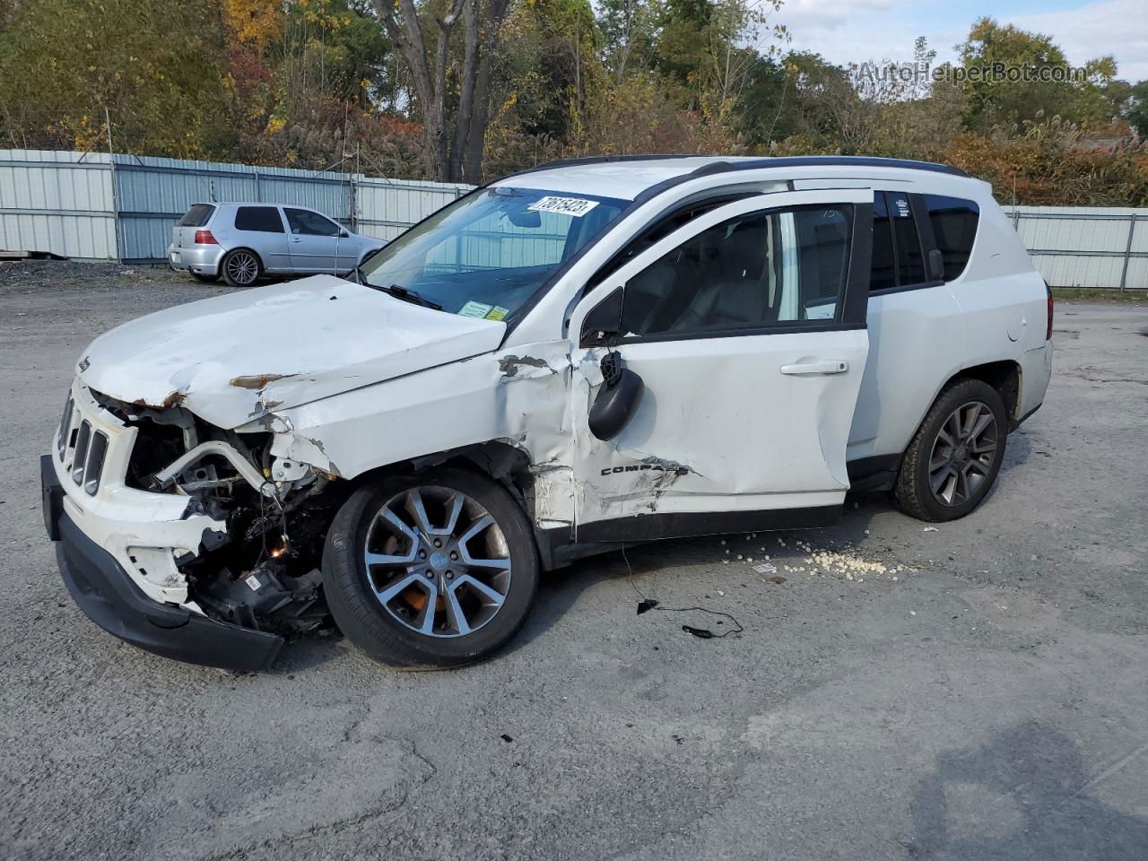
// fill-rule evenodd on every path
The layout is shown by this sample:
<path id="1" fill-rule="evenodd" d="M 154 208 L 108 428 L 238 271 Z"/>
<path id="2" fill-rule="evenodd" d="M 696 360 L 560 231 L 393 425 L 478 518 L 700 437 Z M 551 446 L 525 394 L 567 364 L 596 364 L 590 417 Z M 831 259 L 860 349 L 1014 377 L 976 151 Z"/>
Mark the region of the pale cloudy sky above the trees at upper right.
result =
<path id="1" fill-rule="evenodd" d="M 833 63 L 908 61 L 918 36 L 940 62 L 955 56 L 953 46 L 986 15 L 1052 36 L 1075 65 L 1111 54 L 1117 77 L 1148 79 L 1148 0 L 784 0 L 769 22 L 789 28 L 793 49 Z"/>

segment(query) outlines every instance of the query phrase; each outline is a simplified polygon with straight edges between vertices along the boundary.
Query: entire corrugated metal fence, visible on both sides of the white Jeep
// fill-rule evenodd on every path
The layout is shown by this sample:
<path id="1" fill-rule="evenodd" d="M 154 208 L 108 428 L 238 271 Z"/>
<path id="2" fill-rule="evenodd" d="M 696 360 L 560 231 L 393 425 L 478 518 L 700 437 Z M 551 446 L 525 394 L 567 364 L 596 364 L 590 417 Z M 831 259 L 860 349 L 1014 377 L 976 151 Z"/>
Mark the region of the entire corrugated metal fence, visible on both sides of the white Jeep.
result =
<path id="1" fill-rule="evenodd" d="M 468 189 L 360 173 L 0 149 L 0 250 L 160 262 L 176 220 L 192 203 L 210 201 L 294 203 L 393 239 Z M 1148 209 L 1006 210 L 1054 287 L 1148 289 Z"/>

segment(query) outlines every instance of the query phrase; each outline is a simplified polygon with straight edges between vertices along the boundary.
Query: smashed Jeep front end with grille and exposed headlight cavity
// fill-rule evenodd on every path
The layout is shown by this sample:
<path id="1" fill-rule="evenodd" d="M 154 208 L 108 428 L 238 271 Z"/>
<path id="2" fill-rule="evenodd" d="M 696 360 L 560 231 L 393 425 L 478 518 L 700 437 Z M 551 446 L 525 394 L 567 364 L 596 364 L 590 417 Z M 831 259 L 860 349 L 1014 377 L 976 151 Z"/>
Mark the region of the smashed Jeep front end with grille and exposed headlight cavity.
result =
<path id="1" fill-rule="evenodd" d="M 132 403 L 77 380 L 54 452 L 46 457 L 54 475 L 45 481 L 59 483 L 57 507 L 69 528 L 82 530 L 130 577 L 127 587 L 113 584 L 113 591 L 133 588 L 161 607 L 180 607 L 189 618 L 266 633 L 281 642 L 329 625 L 319 561 L 340 502 L 331 486 L 342 482 L 277 457 L 276 436 L 270 429 L 215 427 L 178 397 Z M 65 548 L 65 556 L 69 551 L 76 556 L 75 548 Z M 71 560 L 72 580 L 88 563 Z M 87 581 L 93 576 L 111 575 L 80 577 L 80 592 L 92 587 Z M 90 591 L 108 592 L 109 587 Z M 77 602 L 84 606 L 79 597 Z M 84 608 L 108 630 L 138 641 Z M 233 664 L 185 659 L 247 668 L 242 658 Z"/>

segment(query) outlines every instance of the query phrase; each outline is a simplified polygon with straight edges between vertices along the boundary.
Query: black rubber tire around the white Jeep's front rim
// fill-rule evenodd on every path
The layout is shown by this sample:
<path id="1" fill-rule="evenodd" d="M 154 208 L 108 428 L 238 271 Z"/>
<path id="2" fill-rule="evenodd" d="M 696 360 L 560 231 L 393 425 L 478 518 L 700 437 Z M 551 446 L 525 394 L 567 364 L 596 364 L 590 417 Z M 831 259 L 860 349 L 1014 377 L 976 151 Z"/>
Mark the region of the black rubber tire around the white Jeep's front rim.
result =
<path id="1" fill-rule="evenodd" d="M 418 620 L 412 618 L 403 622 L 396 618 L 393 608 L 388 608 L 390 605 L 383 605 L 372 584 L 372 573 L 369 573 L 364 559 L 364 553 L 369 549 L 372 522 L 380 510 L 413 488 L 428 488 L 435 492 L 436 489 L 445 489 L 464 494 L 494 518 L 505 540 L 510 568 L 504 599 L 494 615 L 471 633 L 432 636 L 414 630 Z M 414 546 L 419 545 L 411 544 L 410 552 L 416 552 Z M 448 565 L 461 564 L 448 563 Z M 398 573 L 394 571 L 385 573 L 401 580 L 410 576 L 409 572 L 417 569 L 424 573 L 430 572 L 430 563 L 419 561 Z M 374 572 L 374 576 L 379 576 L 378 568 Z M 441 577 L 449 573 L 440 571 L 437 575 Z M 440 467 L 416 475 L 387 475 L 355 491 L 339 510 L 327 532 L 323 552 L 323 575 L 331 614 L 335 625 L 351 643 L 380 664 L 396 669 L 434 669 L 480 661 L 513 637 L 526 621 L 534 602 L 540 565 L 530 523 L 521 507 L 503 487 L 474 472 Z M 442 580 L 436 582 L 445 585 Z M 414 585 L 421 588 L 424 584 L 419 580 Z M 398 600 L 409 591 L 404 590 L 394 600 Z M 445 600 L 444 591 L 435 594 L 442 596 L 436 598 L 436 602 Z M 430 612 L 426 597 L 424 602 L 422 612 Z M 456 599 L 455 606 L 457 605 Z M 436 604 L 436 606 L 442 605 Z M 404 606 L 398 610 L 402 612 L 408 608 Z M 435 611 L 439 612 L 442 611 Z"/>

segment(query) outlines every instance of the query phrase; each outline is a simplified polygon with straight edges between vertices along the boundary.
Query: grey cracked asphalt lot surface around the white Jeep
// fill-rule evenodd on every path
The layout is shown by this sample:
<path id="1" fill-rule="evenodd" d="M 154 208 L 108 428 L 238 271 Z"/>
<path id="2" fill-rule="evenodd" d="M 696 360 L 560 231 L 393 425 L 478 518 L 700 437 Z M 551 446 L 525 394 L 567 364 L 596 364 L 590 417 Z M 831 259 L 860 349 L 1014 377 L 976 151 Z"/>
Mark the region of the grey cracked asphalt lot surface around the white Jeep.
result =
<path id="1" fill-rule="evenodd" d="M 0 858 L 1148 858 L 1145 305 L 1061 304 L 1044 409 L 937 532 L 858 497 L 557 573 L 476 667 L 326 638 L 240 675 L 96 629 L 39 510 L 86 342 L 217 292 L 0 264 Z"/>

